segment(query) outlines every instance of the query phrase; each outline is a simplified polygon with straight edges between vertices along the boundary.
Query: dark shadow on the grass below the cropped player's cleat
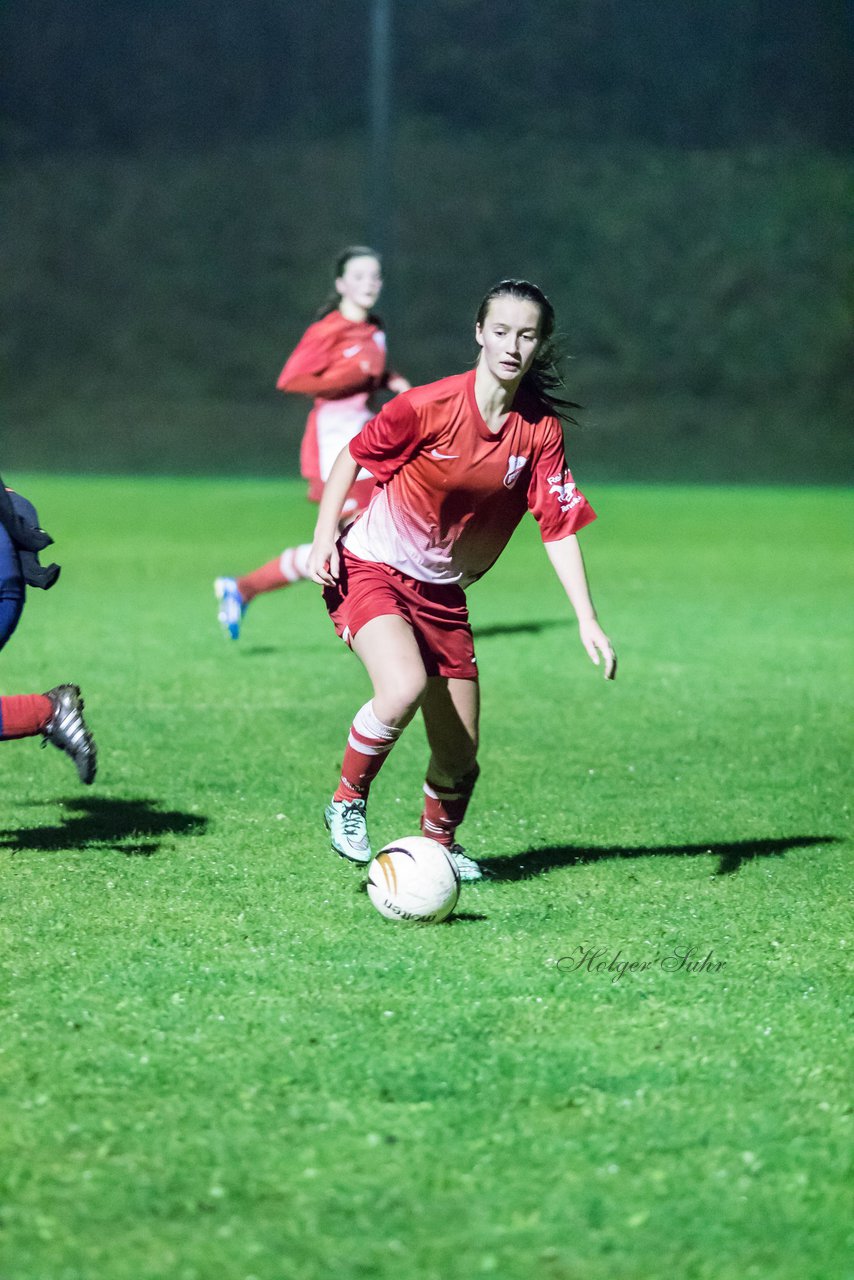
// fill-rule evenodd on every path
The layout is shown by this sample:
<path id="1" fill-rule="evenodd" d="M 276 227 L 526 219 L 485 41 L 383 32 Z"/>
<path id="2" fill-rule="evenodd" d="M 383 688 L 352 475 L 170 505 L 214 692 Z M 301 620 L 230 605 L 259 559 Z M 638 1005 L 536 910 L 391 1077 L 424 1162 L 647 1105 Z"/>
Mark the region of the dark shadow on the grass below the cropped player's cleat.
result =
<path id="1" fill-rule="evenodd" d="M 59 803 L 63 805 L 59 826 L 0 831 L 0 850 L 59 852 L 101 845 L 128 858 L 150 858 L 160 849 L 159 837 L 200 836 L 207 827 L 207 818 L 200 814 L 164 812 L 152 800 L 76 796 Z"/>

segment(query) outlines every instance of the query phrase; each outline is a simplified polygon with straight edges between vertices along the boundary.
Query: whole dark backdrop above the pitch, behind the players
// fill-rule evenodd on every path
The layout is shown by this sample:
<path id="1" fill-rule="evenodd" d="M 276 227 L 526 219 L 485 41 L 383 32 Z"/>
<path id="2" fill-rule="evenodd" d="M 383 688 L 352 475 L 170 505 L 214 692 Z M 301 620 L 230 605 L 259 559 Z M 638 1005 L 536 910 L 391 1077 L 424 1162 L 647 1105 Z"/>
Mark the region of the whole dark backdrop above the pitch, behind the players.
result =
<path id="1" fill-rule="evenodd" d="M 556 302 L 607 477 L 854 477 L 854 0 L 393 0 L 414 381 Z M 296 468 L 275 375 L 370 239 L 371 0 L 5 0 L 6 467 Z M 385 204 L 383 204 L 385 209 Z"/>

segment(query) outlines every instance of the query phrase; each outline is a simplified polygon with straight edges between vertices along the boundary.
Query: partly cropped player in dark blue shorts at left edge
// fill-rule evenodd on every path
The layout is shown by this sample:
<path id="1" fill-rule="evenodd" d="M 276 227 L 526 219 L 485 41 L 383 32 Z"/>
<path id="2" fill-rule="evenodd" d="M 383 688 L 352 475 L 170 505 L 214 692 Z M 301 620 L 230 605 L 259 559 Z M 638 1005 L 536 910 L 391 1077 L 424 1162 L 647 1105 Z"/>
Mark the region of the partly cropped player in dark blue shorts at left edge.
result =
<path id="1" fill-rule="evenodd" d="M 0 480 L 0 649 L 18 626 L 27 585 L 50 588 L 59 576 L 56 564 L 38 563 L 37 553 L 50 543 L 35 507 Z M 0 741 L 36 733 L 70 755 L 81 782 L 95 781 L 95 742 L 83 721 L 77 685 L 0 698 Z"/>

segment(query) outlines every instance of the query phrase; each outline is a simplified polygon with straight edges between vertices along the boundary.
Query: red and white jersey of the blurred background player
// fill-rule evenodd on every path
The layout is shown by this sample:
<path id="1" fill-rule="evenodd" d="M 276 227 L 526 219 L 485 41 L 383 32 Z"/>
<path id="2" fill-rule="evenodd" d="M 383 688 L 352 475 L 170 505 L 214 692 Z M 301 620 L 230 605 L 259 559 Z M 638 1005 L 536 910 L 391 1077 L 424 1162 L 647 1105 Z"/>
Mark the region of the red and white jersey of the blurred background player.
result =
<path id="1" fill-rule="evenodd" d="M 314 397 L 300 451 L 306 479 L 326 479 L 341 451 L 370 419 L 369 397 L 387 376 L 385 334 L 379 325 L 347 320 L 341 311 L 309 325 L 275 384 L 280 392 Z"/>

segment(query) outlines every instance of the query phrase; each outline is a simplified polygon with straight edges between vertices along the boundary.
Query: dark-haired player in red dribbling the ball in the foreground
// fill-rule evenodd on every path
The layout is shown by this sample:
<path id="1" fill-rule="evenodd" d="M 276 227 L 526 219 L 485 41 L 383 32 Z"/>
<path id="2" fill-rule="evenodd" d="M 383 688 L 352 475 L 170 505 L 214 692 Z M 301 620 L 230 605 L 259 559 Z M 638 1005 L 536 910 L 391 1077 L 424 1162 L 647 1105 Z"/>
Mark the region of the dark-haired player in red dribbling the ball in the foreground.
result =
<path id="1" fill-rule="evenodd" d="M 333 849 L 371 858 L 370 785 L 421 710 L 430 746 L 421 831 L 446 845 L 462 879 L 481 870 L 456 844 L 478 778 L 479 687 L 465 588 L 490 568 L 526 511 L 575 609 L 581 643 L 612 680 L 617 659 L 597 621 L 577 531 L 594 520 L 566 465 L 554 394 L 554 311 L 528 280 L 483 300 L 476 367 L 391 401 L 338 456 L 309 567 L 338 635 L 365 664 L 373 699 L 353 719 L 325 810 Z M 360 467 L 378 489 L 338 539 Z"/>

